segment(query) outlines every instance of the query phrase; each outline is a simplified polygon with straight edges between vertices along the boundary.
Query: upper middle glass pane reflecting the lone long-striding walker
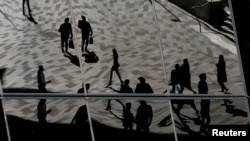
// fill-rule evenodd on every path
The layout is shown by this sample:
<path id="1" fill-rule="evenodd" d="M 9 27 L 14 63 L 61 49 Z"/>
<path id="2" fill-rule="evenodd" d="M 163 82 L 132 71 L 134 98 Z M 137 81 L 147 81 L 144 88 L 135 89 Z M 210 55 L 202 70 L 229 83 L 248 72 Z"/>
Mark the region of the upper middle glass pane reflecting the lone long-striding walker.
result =
<path id="1" fill-rule="evenodd" d="M 108 86 L 120 89 L 126 79 L 134 90 L 139 77 L 145 78 L 154 93 L 164 91 L 161 50 L 149 1 L 73 0 L 72 3 L 76 44 L 79 52 L 83 49 L 82 75 L 83 81 L 91 85 L 89 93 L 116 93 Z M 87 50 L 86 30 L 80 26 L 83 17 L 93 31 L 93 44 L 89 43 Z"/>

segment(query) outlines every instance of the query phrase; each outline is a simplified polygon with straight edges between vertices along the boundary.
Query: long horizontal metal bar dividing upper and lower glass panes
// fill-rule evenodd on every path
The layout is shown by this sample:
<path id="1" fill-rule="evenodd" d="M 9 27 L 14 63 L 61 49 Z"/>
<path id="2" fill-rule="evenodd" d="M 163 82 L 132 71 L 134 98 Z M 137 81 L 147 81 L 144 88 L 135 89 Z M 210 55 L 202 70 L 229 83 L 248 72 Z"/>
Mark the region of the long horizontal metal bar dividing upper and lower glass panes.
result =
<path id="1" fill-rule="evenodd" d="M 244 94 L 61 94 L 61 93 L 4 93 L 1 99 L 159 99 L 159 100 L 198 100 L 198 99 L 239 99 Z"/>

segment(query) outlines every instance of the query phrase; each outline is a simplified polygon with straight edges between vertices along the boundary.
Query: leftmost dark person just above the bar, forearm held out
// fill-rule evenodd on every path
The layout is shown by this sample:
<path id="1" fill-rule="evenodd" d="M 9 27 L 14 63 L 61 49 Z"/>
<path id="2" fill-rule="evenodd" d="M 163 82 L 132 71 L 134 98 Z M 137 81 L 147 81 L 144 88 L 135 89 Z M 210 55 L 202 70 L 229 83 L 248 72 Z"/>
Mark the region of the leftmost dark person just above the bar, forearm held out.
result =
<path id="1" fill-rule="evenodd" d="M 46 81 L 45 80 L 45 75 L 44 75 L 44 67 L 39 66 L 38 71 L 37 71 L 37 83 L 38 83 L 38 90 L 41 93 L 47 92 L 46 85 L 48 83 L 51 83 L 51 80 Z"/>

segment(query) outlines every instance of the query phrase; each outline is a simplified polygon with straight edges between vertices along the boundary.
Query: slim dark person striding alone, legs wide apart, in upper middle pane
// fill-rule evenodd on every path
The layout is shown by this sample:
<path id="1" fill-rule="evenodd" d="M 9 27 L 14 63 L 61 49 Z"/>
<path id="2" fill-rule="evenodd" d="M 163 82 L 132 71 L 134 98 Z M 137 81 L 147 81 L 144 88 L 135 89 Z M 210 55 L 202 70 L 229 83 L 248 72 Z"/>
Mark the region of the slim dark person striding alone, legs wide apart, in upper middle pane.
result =
<path id="1" fill-rule="evenodd" d="M 108 88 L 109 86 L 112 85 L 113 71 L 115 71 L 116 74 L 118 75 L 118 78 L 120 79 L 121 84 L 123 83 L 120 72 L 119 72 L 120 64 L 119 64 L 118 58 L 119 58 L 119 55 L 118 55 L 116 49 L 113 49 L 113 66 L 112 66 L 111 71 L 110 71 L 109 83 L 106 86 L 106 88 Z"/>

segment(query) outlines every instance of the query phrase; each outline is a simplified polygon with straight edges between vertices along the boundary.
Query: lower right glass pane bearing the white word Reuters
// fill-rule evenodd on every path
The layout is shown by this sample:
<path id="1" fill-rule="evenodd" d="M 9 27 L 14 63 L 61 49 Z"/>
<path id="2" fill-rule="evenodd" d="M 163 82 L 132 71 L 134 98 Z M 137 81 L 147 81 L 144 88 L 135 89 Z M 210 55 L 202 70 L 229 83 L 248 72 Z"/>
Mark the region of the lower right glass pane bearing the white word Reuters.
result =
<path id="1" fill-rule="evenodd" d="M 221 136 L 249 137 L 245 100 L 172 101 L 178 140 L 219 139 Z"/>

